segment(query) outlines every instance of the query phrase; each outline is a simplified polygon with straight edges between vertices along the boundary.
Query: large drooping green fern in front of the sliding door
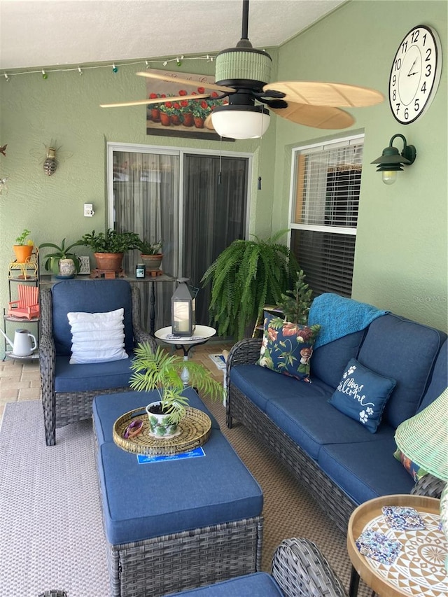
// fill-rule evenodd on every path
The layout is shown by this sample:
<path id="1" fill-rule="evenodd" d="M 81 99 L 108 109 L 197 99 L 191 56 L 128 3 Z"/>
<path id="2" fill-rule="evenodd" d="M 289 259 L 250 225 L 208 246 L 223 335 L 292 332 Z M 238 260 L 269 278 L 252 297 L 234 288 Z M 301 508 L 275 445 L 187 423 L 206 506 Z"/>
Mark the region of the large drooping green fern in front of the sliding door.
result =
<path id="1" fill-rule="evenodd" d="M 279 243 L 286 232 L 265 240 L 237 239 L 205 272 L 202 286 L 211 283 L 209 314 L 218 335 L 243 338 L 265 304 L 276 304 L 294 285 L 300 268 L 289 248 Z"/>

